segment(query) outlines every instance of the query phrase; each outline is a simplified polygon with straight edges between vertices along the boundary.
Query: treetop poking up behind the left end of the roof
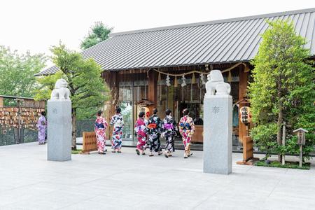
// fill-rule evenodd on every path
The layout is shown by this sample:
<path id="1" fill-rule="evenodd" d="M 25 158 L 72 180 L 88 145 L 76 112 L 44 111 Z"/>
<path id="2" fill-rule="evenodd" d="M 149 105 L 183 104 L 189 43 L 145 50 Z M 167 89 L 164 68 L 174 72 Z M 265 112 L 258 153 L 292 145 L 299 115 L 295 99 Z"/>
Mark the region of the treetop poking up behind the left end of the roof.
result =
<path id="1" fill-rule="evenodd" d="M 106 40 L 109 38 L 109 34 L 112 30 L 113 28 L 106 27 L 103 22 L 95 22 L 87 36 L 85 36 L 84 40 L 81 42 L 81 49 L 85 50 Z"/>

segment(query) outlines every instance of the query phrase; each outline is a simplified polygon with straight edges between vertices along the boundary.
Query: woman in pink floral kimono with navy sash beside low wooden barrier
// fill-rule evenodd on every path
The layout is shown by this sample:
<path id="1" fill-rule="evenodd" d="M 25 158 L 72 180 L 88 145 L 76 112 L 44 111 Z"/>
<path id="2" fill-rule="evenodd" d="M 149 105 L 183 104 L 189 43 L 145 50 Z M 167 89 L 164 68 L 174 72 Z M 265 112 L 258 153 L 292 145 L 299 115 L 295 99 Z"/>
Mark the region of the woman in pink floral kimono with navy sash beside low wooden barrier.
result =
<path id="1" fill-rule="evenodd" d="M 102 111 L 98 111 L 97 112 L 97 119 L 95 120 L 95 126 L 94 126 L 94 130 L 95 130 L 95 134 L 97 137 L 97 152 L 100 155 L 105 155 L 105 146 L 106 146 L 106 127 L 107 122 L 105 120 L 105 118 L 103 118 L 102 116 Z"/>

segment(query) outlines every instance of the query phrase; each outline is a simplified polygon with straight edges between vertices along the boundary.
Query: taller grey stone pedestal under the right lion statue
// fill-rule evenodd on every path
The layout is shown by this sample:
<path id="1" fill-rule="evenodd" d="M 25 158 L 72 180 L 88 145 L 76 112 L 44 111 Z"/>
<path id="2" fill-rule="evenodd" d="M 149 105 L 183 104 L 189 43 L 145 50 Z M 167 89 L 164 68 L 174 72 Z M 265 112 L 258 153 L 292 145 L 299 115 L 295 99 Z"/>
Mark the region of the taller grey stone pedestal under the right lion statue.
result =
<path id="1" fill-rule="evenodd" d="M 204 98 L 204 172 L 232 173 L 232 96 Z"/>

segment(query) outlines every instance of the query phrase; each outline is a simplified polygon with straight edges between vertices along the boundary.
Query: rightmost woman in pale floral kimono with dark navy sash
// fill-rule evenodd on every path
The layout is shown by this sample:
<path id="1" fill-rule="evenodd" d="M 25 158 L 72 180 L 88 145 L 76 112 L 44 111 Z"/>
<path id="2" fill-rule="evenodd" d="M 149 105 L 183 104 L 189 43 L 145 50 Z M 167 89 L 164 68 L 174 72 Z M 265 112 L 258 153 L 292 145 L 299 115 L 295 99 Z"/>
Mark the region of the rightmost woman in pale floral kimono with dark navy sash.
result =
<path id="1" fill-rule="evenodd" d="M 193 153 L 190 153 L 190 141 L 195 132 L 194 121 L 193 118 L 190 118 L 188 109 L 183 110 L 183 118 L 179 120 L 179 132 L 185 147 L 184 158 L 188 158 L 193 155 Z"/>

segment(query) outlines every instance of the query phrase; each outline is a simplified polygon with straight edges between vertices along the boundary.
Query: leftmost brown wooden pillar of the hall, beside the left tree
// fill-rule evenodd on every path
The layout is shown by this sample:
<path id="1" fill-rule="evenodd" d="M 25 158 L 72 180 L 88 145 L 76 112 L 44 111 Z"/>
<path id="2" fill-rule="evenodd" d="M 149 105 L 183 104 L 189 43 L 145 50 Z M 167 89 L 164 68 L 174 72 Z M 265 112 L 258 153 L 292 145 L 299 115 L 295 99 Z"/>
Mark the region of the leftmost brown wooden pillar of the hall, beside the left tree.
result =
<path id="1" fill-rule="evenodd" d="M 116 113 L 116 107 L 119 104 L 119 71 L 111 71 L 109 74 L 107 84 L 109 85 L 111 99 L 106 102 L 106 110 L 104 111 L 107 123 L 111 122 L 111 117 Z M 111 139 L 111 134 L 113 134 L 112 126 L 106 131 L 106 139 Z"/>

